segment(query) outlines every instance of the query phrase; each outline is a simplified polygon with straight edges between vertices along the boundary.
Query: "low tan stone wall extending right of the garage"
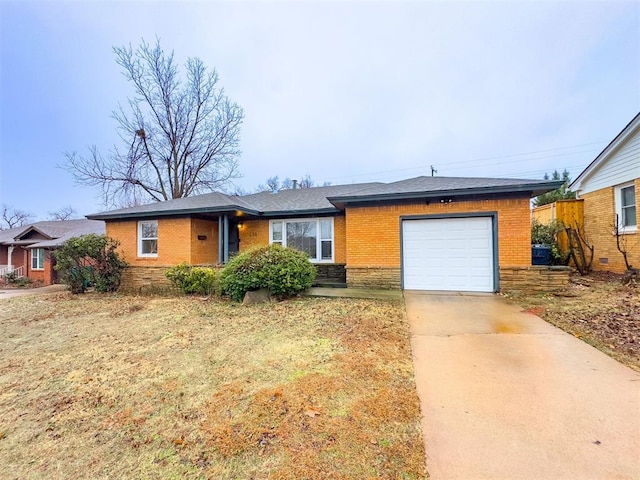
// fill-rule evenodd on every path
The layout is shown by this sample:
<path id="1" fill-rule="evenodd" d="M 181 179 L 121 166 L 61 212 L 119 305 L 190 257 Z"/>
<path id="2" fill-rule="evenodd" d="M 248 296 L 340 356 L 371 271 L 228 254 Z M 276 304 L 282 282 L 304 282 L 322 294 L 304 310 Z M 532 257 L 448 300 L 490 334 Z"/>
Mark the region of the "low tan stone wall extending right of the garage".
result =
<path id="1" fill-rule="evenodd" d="M 570 274 L 570 267 L 500 267 L 500 290 L 559 292 L 569 284 Z"/>

